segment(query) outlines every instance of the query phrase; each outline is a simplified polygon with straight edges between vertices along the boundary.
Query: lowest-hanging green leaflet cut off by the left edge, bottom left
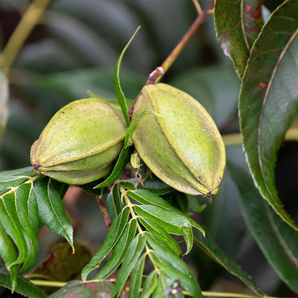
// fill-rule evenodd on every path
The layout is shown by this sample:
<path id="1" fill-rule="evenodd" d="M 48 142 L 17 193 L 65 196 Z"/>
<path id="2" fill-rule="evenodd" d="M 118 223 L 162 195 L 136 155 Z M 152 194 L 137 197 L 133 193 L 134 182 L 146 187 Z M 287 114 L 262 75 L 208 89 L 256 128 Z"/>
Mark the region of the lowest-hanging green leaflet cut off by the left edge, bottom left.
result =
<path id="1" fill-rule="evenodd" d="M 18 266 L 14 265 L 9 267 L 9 265 L 17 259 L 17 256 L 15 253 L 15 248 L 13 246 L 13 243 L 10 240 L 10 237 L 5 232 L 1 223 L 0 223 L 0 256 L 3 259 L 6 268 L 9 268 L 11 290 L 14 291 L 17 283 Z"/>

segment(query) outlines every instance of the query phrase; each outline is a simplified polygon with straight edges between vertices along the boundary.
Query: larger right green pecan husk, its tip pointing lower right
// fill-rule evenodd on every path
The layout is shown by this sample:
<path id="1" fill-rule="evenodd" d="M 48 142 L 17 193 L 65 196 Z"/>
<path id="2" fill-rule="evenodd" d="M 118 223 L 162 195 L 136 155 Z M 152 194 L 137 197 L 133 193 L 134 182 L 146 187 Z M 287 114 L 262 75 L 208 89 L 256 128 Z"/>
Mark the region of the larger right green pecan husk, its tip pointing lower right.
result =
<path id="1" fill-rule="evenodd" d="M 226 165 L 221 135 L 205 108 L 189 94 L 167 84 L 147 85 L 132 118 L 133 142 L 142 160 L 162 181 L 184 193 L 210 197 L 218 192 Z"/>

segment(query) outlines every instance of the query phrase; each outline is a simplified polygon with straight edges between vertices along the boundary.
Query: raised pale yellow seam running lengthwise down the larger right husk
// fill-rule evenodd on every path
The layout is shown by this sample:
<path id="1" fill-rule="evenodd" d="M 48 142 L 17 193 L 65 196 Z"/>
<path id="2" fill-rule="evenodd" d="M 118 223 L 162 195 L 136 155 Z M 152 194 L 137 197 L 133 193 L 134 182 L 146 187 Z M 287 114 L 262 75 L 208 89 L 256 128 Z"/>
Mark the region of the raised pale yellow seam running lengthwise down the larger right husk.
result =
<path id="1" fill-rule="evenodd" d="M 153 85 L 153 86 L 154 86 L 154 85 Z M 146 89 L 149 89 L 148 87 L 144 87 L 144 88 L 145 88 L 145 90 L 146 90 Z M 174 88 L 174 87 L 172 87 L 172 88 Z M 163 92 L 167 92 L 167 93 L 169 93 L 169 94 L 172 94 L 172 92 L 169 92 L 169 91 L 165 91 L 165 90 L 162 90 L 162 91 L 163 91 Z M 180 91 L 180 90 L 179 90 L 179 91 Z M 148 90 L 146 90 L 146 92 L 149 93 Z M 187 94 L 187 95 L 188 95 L 188 94 Z M 190 95 L 188 95 L 188 96 L 189 96 L 189 98 L 191 98 L 192 100 L 195 101 L 195 104 L 198 103 L 193 97 L 191 97 Z M 156 101 L 155 101 L 155 99 L 154 99 L 153 94 L 150 94 L 149 98 L 150 98 L 150 100 L 151 100 L 151 104 L 152 104 L 152 106 L 153 106 L 154 111 L 156 111 L 157 113 L 160 114 L 160 111 L 158 110 L 158 107 L 157 107 L 157 104 L 156 104 Z M 203 108 L 203 107 L 200 107 L 200 108 Z M 206 113 L 207 113 L 207 112 L 206 112 Z M 211 118 L 211 117 L 210 117 L 210 118 Z M 209 120 L 213 122 L 213 119 L 212 119 L 212 118 L 209 119 Z M 183 178 L 186 179 L 186 180 L 187 180 L 187 181 L 188 181 L 188 182 L 189 182 L 195 189 L 197 189 L 199 192 L 201 192 L 201 193 L 204 194 L 204 195 L 206 195 L 209 191 L 212 193 L 212 191 L 216 190 L 216 188 L 218 188 L 218 185 L 217 185 L 217 186 L 212 185 L 212 188 L 210 189 L 210 188 L 209 188 L 203 181 L 201 181 L 201 179 L 198 178 L 197 174 L 195 173 L 195 170 L 189 165 L 189 161 L 188 161 L 188 160 L 186 159 L 186 157 L 180 152 L 180 150 L 178 150 L 178 148 L 176 148 L 177 146 L 174 146 L 175 141 L 174 141 L 173 138 L 170 136 L 170 134 L 167 132 L 166 127 L 165 127 L 166 125 L 163 123 L 164 121 L 163 121 L 162 117 L 157 117 L 157 121 L 159 122 L 159 125 L 160 125 L 162 131 L 164 132 L 164 135 L 166 136 L 167 141 L 168 141 L 170 147 L 176 152 L 176 154 L 177 154 L 178 158 L 181 160 L 181 162 L 187 166 L 188 170 L 193 174 L 193 176 L 195 177 L 195 179 L 196 179 L 197 181 L 199 181 L 199 182 L 202 184 L 202 186 L 204 187 L 204 190 L 206 190 L 206 191 L 203 191 L 202 189 L 198 189 L 198 186 L 195 185 L 195 184 L 193 184 L 191 181 L 189 181 L 189 179 L 187 179 L 187 177 L 183 177 Z M 176 172 L 176 171 L 175 171 L 175 172 Z M 177 173 L 177 172 L 176 172 L 176 173 Z M 181 173 L 179 173 L 179 174 L 181 175 Z M 213 178 L 212 178 L 212 180 L 214 181 Z M 213 183 L 214 183 L 214 182 L 213 182 Z"/>

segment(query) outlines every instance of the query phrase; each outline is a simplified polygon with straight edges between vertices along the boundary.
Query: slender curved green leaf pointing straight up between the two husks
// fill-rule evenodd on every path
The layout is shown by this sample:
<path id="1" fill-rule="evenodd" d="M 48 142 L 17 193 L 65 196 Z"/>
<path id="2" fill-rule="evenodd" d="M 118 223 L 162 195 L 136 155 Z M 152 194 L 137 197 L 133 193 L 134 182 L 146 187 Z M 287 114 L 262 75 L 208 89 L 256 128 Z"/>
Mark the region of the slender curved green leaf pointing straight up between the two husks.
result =
<path id="1" fill-rule="evenodd" d="M 127 45 L 122 50 L 122 52 L 121 52 L 121 54 L 120 54 L 120 56 L 117 60 L 117 63 L 116 63 L 116 66 L 115 66 L 115 71 L 114 71 L 114 87 L 115 87 L 115 91 L 116 91 L 116 95 L 117 95 L 117 98 L 118 98 L 118 101 L 119 101 L 119 105 L 122 109 L 122 113 L 123 113 L 123 116 L 124 116 L 124 119 L 125 119 L 125 122 L 126 122 L 127 126 L 130 125 L 130 120 L 129 120 L 129 116 L 128 116 L 128 109 L 127 109 L 126 99 L 125 99 L 124 93 L 123 93 L 123 91 L 121 89 L 121 86 L 120 86 L 119 69 L 120 69 L 120 65 L 121 65 L 123 55 L 124 55 L 126 49 L 128 48 L 129 44 L 133 40 L 134 36 L 139 31 L 139 29 L 140 29 L 140 26 L 136 29 L 136 31 L 134 32 L 131 39 L 128 41 Z"/>

